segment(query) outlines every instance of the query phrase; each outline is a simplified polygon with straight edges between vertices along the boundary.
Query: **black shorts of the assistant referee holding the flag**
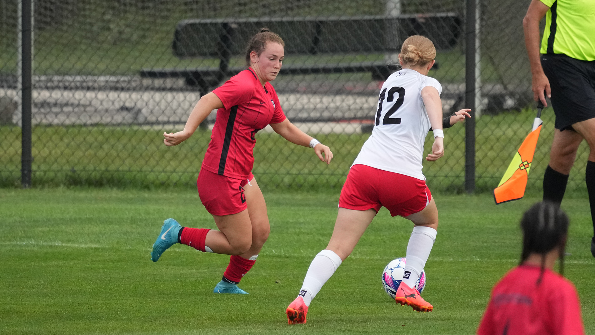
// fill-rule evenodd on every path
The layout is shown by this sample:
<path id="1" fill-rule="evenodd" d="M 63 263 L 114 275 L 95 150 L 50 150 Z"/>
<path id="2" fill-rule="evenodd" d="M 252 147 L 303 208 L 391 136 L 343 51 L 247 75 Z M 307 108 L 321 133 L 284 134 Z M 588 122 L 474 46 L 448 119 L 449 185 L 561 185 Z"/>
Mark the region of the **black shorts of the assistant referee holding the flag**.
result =
<path id="1" fill-rule="evenodd" d="M 574 130 L 572 124 L 595 117 L 595 61 L 543 54 L 541 67 L 552 87 L 556 129 Z"/>

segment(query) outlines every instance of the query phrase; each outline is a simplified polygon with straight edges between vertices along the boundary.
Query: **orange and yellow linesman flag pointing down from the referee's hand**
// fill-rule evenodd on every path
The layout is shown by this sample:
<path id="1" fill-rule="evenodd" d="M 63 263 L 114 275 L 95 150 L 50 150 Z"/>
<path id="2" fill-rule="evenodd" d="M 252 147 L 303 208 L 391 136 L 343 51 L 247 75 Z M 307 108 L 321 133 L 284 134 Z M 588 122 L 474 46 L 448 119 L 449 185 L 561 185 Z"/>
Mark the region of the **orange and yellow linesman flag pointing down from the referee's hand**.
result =
<path id="1" fill-rule="evenodd" d="M 525 195 L 527 178 L 531 169 L 531 163 L 533 162 L 533 154 L 537 147 L 541 124 L 543 123 L 540 119 L 541 108 L 543 108 L 541 102 L 537 108 L 537 117 L 533 122 L 533 130 L 525 137 L 525 141 L 522 142 L 521 147 L 516 151 L 511 165 L 508 166 L 504 176 L 502 176 L 500 184 L 494 190 L 496 204 L 519 200 Z"/>

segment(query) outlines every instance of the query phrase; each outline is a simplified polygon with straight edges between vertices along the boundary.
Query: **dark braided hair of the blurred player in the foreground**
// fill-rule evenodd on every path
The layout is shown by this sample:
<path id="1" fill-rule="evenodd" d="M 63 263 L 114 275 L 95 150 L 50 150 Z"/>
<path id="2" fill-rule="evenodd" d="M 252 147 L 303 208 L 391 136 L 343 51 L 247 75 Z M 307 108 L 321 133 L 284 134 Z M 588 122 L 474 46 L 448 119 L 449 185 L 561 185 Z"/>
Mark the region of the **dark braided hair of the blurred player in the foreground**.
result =
<path id="1" fill-rule="evenodd" d="M 560 274 L 564 272 L 564 250 L 568 234 L 568 216 L 560 207 L 549 201 L 534 204 L 522 217 L 523 232 L 521 264 L 531 253 L 541 255 L 541 282 L 545 267 L 546 254 L 556 247 L 559 250 Z"/>

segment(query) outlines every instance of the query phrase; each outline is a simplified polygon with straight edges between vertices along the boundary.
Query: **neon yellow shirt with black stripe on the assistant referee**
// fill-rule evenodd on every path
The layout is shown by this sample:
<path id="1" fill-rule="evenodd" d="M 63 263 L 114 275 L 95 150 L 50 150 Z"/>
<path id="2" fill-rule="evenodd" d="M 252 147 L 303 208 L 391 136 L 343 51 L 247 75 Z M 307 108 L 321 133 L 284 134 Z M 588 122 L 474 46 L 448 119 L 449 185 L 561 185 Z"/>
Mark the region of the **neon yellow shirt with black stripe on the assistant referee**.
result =
<path id="1" fill-rule="evenodd" d="M 541 54 L 595 60 L 595 0 L 540 0 L 550 10 Z"/>

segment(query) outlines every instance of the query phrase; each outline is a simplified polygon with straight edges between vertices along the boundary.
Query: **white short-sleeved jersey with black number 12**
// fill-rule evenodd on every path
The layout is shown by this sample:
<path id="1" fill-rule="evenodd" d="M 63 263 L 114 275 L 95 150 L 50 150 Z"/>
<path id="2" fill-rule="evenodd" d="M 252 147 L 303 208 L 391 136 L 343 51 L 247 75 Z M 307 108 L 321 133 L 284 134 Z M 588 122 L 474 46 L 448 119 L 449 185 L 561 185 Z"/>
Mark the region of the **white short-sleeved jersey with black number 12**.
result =
<path id="1" fill-rule="evenodd" d="M 372 135 L 364 143 L 353 165 L 401 173 L 425 180 L 422 173 L 425 136 L 430 118 L 421 98 L 421 89 L 432 86 L 440 95 L 438 80 L 403 69 L 382 85 Z"/>

